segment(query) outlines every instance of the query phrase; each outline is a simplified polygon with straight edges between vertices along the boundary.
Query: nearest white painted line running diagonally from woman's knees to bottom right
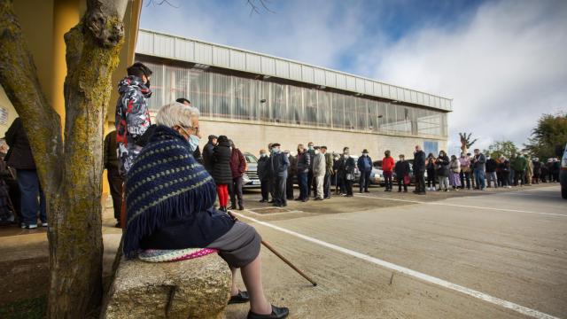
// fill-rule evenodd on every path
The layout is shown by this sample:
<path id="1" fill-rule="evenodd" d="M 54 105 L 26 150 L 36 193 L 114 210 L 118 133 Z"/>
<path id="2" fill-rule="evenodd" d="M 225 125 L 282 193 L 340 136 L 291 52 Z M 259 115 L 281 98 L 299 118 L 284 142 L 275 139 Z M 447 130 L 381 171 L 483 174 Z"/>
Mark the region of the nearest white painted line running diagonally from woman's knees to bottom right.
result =
<path id="1" fill-rule="evenodd" d="M 469 295 L 471 297 L 474 297 L 478 300 L 485 300 L 485 301 L 490 302 L 494 305 L 514 310 L 517 313 L 520 313 L 522 315 L 529 315 L 529 316 L 532 316 L 533 318 L 538 318 L 538 319 L 559 319 L 558 317 L 555 317 L 553 315 L 548 315 L 548 314 L 542 313 L 538 310 L 535 310 L 535 309 L 532 309 L 532 308 L 529 308 L 529 307 L 520 306 L 520 305 L 518 305 L 514 302 L 511 302 L 511 301 L 508 301 L 508 300 L 501 300 L 500 298 L 493 297 L 493 296 L 488 295 L 484 292 L 478 292 L 478 291 L 475 291 L 473 289 L 463 287 L 462 285 L 459 285 L 459 284 L 453 284 L 453 283 L 448 282 L 447 280 L 443 280 L 443 279 L 440 279 L 440 278 L 434 277 L 434 276 L 429 276 L 429 275 L 423 274 L 419 271 L 412 270 L 412 269 L 409 269 L 409 268 L 405 268 L 405 267 L 393 264 L 392 262 L 383 261 L 383 260 L 377 259 L 375 257 L 369 256 L 369 255 L 364 254 L 364 253 L 358 253 L 358 252 L 355 252 L 355 251 L 350 250 L 348 248 L 341 247 L 339 245 L 330 244 L 330 243 L 327 243 L 325 241 L 322 241 L 322 240 L 314 238 L 314 237 L 309 237 L 307 235 L 299 234 L 298 232 L 295 232 L 293 230 L 284 229 L 282 227 L 276 226 L 276 225 L 271 224 L 269 222 L 261 222 L 257 219 L 245 216 L 243 214 L 238 214 L 238 213 L 234 213 L 234 214 L 237 214 L 238 216 L 243 217 L 243 218 L 245 218 L 249 221 L 256 222 L 260 225 L 269 227 L 271 229 L 282 231 L 282 232 L 289 234 L 291 236 L 299 237 L 301 239 L 307 240 L 307 241 L 312 242 L 314 244 L 322 245 L 323 247 L 334 249 L 334 250 L 336 250 L 340 253 L 346 253 L 346 254 L 351 255 L 353 257 L 360 258 L 363 261 L 369 261 L 369 262 L 372 262 L 374 264 L 377 264 L 378 266 L 382 266 L 384 268 L 392 269 L 392 270 L 398 271 L 398 272 L 405 274 L 405 275 L 408 275 L 408 276 L 413 276 L 417 279 L 423 280 L 424 282 L 427 282 L 427 283 L 430 283 L 430 284 L 437 284 L 441 287 L 453 290 L 455 292 L 464 293 L 464 294 Z"/>

